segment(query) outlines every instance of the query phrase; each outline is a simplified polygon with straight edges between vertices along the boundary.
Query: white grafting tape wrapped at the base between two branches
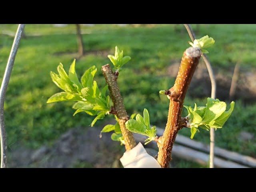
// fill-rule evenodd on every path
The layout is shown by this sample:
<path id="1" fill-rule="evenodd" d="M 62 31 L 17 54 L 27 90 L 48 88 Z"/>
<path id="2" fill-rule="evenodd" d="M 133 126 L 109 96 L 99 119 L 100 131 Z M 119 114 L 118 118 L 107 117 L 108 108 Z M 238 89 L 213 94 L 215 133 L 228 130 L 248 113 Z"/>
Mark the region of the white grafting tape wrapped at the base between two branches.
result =
<path id="1" fill-rule="evenodd" d="M 120 158 L 124 168 L 161 168 L 157 160 L 150 156 L 141 143 Z"/>

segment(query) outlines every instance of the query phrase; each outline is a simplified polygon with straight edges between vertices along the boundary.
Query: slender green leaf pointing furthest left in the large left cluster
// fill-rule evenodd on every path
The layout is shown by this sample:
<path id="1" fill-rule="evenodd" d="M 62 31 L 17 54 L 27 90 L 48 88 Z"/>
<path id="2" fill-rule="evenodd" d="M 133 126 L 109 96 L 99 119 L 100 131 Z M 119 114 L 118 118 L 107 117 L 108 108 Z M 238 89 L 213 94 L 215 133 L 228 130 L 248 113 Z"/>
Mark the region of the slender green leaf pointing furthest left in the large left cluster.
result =
<path id="1" fill-rule="evenodd" d="M 60 102 L 60 101 L 82 101 L 82 98 L 77 94 L 71 94 L 68 92 L 60 92 L 51 96 L 47 103 Z"/>

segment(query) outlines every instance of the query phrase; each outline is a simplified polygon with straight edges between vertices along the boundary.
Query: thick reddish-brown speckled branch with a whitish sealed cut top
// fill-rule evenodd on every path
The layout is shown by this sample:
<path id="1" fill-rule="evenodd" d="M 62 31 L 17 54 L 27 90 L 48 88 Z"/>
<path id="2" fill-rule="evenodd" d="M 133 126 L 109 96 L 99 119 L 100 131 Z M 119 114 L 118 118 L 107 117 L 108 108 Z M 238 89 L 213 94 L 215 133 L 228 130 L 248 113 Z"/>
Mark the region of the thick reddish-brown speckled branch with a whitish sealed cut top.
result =
<path id="1" fill-rule="evenodd" d="M 170 105 L 168 112 L 168 120 L 164 134 L 161 138 L 161 143 L 158 148 L 158 163 L 162 168 L 168 168 L 169 162 L 172 159 L 172 146 L 178 131 L 180 130 L 181 114 L 184 98 L 188 90 L 188 86 L 196 70 L 201 51 L 199 48 L 187 48 L 183 53 L 180 63 L 178 75 L 174 86 L 170 88 Z"/>

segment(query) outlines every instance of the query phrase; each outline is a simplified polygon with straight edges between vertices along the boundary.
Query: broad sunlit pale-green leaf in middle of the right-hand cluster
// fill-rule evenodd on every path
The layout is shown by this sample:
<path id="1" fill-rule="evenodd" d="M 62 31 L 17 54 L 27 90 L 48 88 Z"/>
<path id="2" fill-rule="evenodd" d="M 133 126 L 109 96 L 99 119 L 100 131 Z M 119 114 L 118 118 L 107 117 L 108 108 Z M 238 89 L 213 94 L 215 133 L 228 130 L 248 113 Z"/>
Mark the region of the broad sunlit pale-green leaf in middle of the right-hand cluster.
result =
<path id="1" fill-rule="evenodd" d="M 220 100 L 208 98 L 205 114 L 203 117 L 203 124 L 212 124 L 226 110 L 226 103 Z"/>

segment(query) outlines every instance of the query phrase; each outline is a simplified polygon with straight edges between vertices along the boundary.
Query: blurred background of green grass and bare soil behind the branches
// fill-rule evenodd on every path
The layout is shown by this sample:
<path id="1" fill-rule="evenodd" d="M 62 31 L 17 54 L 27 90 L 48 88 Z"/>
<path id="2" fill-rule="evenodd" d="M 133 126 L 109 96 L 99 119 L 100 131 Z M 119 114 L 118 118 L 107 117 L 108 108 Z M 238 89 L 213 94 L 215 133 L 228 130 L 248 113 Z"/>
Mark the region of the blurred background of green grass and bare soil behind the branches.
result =
<path id="1" fill-rule="evenodd" d="M 1 82 L 17 27 L 0 24 Z M 197 38 L 207 34 L 215 40 L 208 58 L 216 76 L 216 98 L 228 102 L 228 108 L 231 100 L 236 102 L 231 117 L 215 132 L 216 146 L 256 158 L 256 25 L 194 24 L 192 28 Z M 188 41 L 182 24 L 27 24 L 4 106 L 8 166 L 122 167 L 119 158 L 124 147 L 110 140 L 110 134 L 99 138 L 112 117 L 98 120 L 91 128 L 94 117 L 86 113 L 72 116 L 74 102 L 46 104 L 60 92 L 50 71 L 56 72 L 60 62 L 68 71 L 76 58 L 79 78 L 96 65 L 95 79 L 102 88 L 106 83 L 100 68 L 110 63 L 107 55 L 114 54 L 118 46 L 132 58 L 118 77 L 128 114 L 142 114 L 147 108 L 151 124 L 165 128 L 169 102 L 158 92 L 173 86 Z M 201 59 L 185 105 L 204 106 L 210 93 L 210 78 Z M 184 128 L 179 135 L 190 137 L 190 130 Z M 194 140 L 209 144 L 209 132 L 200 131 Z M 207 162 L 179 156 L 172 161 L 176 168 L 207 166 Z"/>

